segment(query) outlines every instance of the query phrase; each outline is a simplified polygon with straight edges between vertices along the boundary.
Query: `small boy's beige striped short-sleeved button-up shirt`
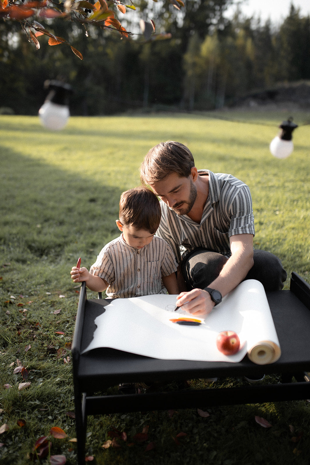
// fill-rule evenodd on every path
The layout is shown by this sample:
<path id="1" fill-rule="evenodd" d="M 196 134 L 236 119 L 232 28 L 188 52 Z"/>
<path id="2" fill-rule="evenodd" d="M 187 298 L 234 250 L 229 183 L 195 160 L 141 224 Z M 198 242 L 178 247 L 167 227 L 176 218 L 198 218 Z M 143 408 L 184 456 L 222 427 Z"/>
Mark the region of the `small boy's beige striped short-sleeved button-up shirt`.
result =
<path id="1" fill-rule="evenodd" d="M 150 244 L 136 249 L 121 234 L 101 250 L 90 273 L 109 283 L 107 297 L 125 298 L 166 294 L 161 277 L 176 270 L 174 253 L 165 240 L 154 237 Z"/>

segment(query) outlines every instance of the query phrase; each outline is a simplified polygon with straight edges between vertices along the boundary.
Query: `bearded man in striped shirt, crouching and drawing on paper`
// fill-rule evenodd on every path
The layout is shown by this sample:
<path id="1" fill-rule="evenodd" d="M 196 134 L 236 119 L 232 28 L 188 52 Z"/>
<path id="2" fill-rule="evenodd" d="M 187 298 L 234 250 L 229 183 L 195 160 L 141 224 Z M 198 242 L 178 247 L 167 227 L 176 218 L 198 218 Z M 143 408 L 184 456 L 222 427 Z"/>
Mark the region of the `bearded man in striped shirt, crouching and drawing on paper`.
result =
<path id="1" fill-rule="evenodd" d="M 281 261 L 253 251 L 251 193 L 242 181 L 198 171 L 190 150 L 174 141 L 153 147 L 140 173 L 161 199 L 157 235 L 174 250 L 180 289 L 182 277 L 185 281 L 178 306 L 205 316 L 244 279 L 261 281 L 265 290 L 283 288 L 287 274 Z"/>

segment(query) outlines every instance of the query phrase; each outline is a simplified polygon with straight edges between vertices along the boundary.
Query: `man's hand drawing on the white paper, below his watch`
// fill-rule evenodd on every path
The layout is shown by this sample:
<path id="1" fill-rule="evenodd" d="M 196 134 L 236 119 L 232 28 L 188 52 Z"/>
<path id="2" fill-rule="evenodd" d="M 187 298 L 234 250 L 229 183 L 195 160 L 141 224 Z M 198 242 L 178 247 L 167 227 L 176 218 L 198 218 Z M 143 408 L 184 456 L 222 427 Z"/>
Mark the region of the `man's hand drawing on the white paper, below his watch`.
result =
<path id="1" fill-rule="evenodd" d="M 177 297 L 176 305 L 182 306 L 182 310 L 191 315 L 206 317 L 215 306 L 215 302 L 211 299 L 209 292 L 203 289 L 193 289 L 189 292 L 181 292 Z"/>

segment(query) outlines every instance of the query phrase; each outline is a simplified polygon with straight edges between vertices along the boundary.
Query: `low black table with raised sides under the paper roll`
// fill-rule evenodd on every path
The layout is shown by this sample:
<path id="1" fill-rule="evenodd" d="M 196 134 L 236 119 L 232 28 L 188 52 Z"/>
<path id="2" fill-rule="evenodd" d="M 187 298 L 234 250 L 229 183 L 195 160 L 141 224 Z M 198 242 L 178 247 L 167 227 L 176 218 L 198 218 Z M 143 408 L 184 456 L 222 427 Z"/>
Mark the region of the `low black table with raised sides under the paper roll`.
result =
<path id="1" fill-rule="evenodd" d="M 277 362 L 258 367 L 247 356 L 241 362 L 230 363 L 153 359 L 110 348 L 93 349 L 82 354 L 96 329 L 95 318 L 105 311 L 104 307 L 109 303 L 109 299 L 87 299 L 86 286 L 82 283 L 72 344 L 79 465 L 85 464 L 88 415 L 310 398 L 310 383 L 300 375 L 310 370 L 310 286 L 293 272 L 289 291 L 267 292 L 266 295 L 282 354 Z M 251 377 L 262 368 L 266 374 L 281 373 L 285 382 L 237 388 L 94 395 L 121 382 L 169 382 L 244 374 Z M 291 382 L 292 375 L 297 382 Z"/>

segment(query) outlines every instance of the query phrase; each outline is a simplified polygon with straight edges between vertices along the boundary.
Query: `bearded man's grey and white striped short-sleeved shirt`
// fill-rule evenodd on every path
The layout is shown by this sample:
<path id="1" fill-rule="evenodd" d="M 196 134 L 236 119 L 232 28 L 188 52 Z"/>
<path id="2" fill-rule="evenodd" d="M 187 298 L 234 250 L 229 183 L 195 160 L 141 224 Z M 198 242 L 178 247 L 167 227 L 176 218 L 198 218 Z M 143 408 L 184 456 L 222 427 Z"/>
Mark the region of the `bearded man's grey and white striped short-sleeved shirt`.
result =
<path id="1" fill-rule="evenodd" d="M 160 201 L 162 216 L 156 235 L 171 245 L 178 262 L 196 247 L 230 256 L 231 236 L 255 233 L 249 187 L 231 174 L 198 173 L 209 174 L 209 195 L 200 224 L 187 215 L 178 216 Z"/>

